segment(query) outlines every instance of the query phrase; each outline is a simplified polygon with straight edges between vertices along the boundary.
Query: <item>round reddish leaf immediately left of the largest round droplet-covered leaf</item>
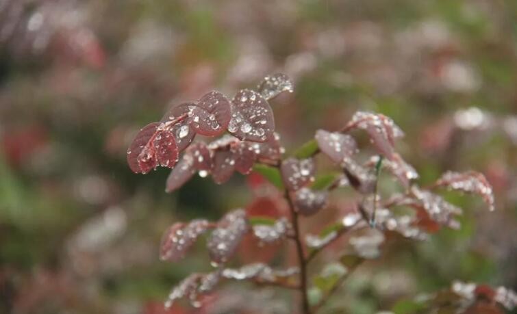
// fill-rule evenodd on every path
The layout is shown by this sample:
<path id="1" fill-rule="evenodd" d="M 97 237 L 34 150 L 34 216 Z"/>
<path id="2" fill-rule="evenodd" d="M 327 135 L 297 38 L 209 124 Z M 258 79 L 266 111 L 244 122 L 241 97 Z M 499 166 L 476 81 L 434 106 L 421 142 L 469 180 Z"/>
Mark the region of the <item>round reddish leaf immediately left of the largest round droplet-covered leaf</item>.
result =
<path id="1" fill-rule="evenodd" d="M 220 92 L 209 92 L 191 105 L 190 127 L 197 133 L 216 136 L 223 133 L 230 121 L 230 102 Z"/>

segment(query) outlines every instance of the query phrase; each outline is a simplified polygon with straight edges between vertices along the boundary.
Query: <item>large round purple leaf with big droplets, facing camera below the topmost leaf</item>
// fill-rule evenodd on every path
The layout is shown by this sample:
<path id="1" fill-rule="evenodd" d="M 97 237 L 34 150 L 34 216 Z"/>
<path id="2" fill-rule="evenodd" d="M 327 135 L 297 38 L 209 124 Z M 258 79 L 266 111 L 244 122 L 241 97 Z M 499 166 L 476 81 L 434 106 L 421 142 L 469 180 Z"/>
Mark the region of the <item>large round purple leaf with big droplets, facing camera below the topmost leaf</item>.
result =
<path id="1" fill-rule="evenodd" d="M 273 110 L 257 92 L 240 90 L 231 101 L 228 131 L 240 140 L 265 142 L 275 131 Z"/>

